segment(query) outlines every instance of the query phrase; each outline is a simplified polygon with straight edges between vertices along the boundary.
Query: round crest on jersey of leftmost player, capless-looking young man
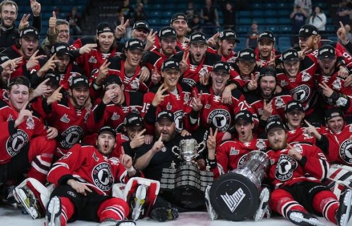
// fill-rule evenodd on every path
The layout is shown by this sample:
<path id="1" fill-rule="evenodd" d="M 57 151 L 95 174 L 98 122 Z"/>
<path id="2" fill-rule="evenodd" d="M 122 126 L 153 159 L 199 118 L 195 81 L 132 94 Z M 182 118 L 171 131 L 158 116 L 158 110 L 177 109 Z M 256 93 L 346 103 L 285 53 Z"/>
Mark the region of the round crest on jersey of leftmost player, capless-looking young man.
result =
<path id="1" fill-rule="evenodd" d="M 15 157 L 28 143 L 28 135 L 23 130 L 17 130 L 6 142 L 6 151 L 11 157 Z"/>

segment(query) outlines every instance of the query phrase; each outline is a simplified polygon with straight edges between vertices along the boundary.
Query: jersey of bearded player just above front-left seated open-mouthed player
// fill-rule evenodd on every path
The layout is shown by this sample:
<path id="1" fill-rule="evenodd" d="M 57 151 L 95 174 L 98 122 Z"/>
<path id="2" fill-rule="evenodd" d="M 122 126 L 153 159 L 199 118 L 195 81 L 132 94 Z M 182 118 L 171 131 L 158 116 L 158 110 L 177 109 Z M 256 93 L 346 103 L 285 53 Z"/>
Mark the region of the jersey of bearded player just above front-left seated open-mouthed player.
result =
<path id="1" fill-rule="evenodd" d="M 60 101 L 50 105 L 47 104 L 46 99 L 32 104 L 33 109 L 47 120 L 49 126 L 57 129 L 59 135 L 56 141 L 63 154 L 86 135 L 85 122 L 90 113 L 87 107 L 75 108 L 69 98 L 63 97 Z M 62 153 L 57 154 L 60 156 Z"/>

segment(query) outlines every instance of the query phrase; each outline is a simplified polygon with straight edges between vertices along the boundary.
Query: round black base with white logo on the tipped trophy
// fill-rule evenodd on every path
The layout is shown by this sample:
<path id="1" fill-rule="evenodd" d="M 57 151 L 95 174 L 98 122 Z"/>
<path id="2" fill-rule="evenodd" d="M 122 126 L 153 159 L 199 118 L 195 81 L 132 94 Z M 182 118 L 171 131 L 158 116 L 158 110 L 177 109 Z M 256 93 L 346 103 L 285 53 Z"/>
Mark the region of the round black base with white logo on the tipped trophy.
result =
<path id="1" fill-rule="evenodd" d="M 249 178 L 226 173 L 214 181 L 210 189 L 210 202 L 220 217 L 242 221 L 251 218 L 257 210 L 259 193 Z"/>

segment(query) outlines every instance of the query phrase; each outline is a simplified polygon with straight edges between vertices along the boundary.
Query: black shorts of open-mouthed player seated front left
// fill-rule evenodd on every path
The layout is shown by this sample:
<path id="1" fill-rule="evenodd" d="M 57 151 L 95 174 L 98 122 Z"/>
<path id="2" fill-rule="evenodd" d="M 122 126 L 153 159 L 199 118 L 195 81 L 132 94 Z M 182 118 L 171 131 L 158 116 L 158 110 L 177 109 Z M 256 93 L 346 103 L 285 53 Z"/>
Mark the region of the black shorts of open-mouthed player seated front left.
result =
<path id="1" fill-rule="evenodd" d="M 93 189 L 92 189 L 93 190 Z M 86 192 L 87 196 L 84 196 L 76 192 L 69 185 L 60 185 L 54 189 L 51 193 L 51 197 L 59 196 L 69 198 L 74 205 L 74 213 L 68 222 L 75 220 L 86 220 L 99 222 L 98 209 L 100 204 L 106 199 L 111 198 L 110 196 L 98 194 L 96 191 Z"/>

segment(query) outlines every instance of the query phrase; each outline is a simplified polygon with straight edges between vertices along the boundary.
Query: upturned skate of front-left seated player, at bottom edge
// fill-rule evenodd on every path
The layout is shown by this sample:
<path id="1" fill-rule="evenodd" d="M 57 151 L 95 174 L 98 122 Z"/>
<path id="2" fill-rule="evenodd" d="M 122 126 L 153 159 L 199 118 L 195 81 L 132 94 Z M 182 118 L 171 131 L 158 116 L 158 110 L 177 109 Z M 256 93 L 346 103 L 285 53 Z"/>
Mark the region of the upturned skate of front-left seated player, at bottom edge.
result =
<path id="1" fill-rule="evenodd" d="M 58 196 L 50 199 L 46 208 L 45 226 L 61 226 L 61 200 Z"/>

